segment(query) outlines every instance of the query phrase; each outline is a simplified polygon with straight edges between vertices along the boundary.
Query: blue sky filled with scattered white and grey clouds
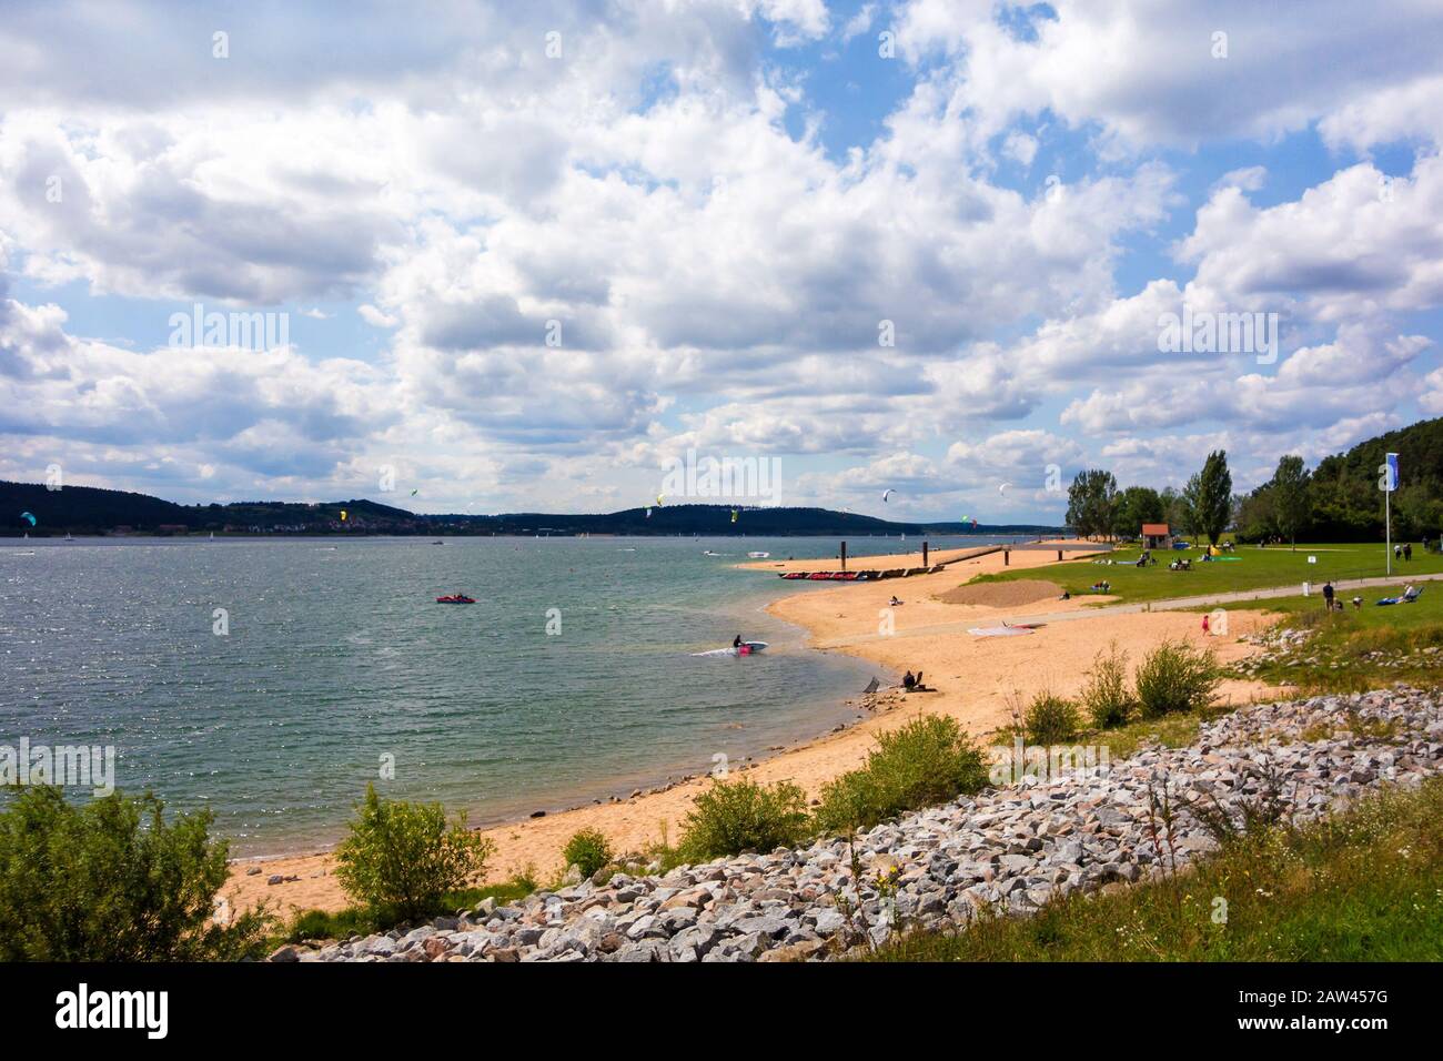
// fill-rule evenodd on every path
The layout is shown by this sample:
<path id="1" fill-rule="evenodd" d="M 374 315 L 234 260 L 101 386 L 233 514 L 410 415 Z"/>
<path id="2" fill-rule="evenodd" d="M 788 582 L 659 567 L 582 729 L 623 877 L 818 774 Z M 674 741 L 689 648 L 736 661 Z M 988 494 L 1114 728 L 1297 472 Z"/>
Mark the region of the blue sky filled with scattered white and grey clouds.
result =
<path id="1" fill-rule="evenodd" d="M 0 479 L 1248 489 L 1443 413 L 1440 143 L 1436 0 L 0 0 Z"/>

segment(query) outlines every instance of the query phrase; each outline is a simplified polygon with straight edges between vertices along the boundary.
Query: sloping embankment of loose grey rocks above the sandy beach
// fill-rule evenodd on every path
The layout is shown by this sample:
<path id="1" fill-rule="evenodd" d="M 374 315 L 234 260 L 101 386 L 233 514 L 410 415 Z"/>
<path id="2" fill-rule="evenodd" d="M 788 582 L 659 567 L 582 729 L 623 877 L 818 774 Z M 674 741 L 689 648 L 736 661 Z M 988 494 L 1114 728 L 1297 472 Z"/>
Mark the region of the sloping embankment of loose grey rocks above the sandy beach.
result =
<path id="1" fill-rule="evenodd" d="M 1266 704 L 1203 725 L 1189 748 L 1023 778 L 877 826 L 854 847 L 820 840 L 665 876 L 584 881 L 273 960 L 823 960 L 896 931 L 965 924 L 984 907 L 1026 915 L 1052 895 L 1170 872 L 1216 844 L 1219 814 L 1240 821 L 1245 805 L 1302 821 L 1440 768 L 1443 709 L 1427 693 Z"/>

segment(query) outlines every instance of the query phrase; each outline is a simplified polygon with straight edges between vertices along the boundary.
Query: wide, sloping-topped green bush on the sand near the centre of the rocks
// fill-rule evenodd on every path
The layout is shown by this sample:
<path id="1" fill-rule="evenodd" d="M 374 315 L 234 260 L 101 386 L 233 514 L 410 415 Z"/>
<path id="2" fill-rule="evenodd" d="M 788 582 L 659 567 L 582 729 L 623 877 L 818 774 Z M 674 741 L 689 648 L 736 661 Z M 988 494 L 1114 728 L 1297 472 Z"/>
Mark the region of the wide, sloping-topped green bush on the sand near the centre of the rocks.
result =
<path id="1" fill-rule="evenodd" d="M 957 720 L 921 715 L 890 733 L 879 733 L 861 769 L 823 788 L 817 824 L 827 831 L 869 829 L 986 785 L 983 752 Z"/>

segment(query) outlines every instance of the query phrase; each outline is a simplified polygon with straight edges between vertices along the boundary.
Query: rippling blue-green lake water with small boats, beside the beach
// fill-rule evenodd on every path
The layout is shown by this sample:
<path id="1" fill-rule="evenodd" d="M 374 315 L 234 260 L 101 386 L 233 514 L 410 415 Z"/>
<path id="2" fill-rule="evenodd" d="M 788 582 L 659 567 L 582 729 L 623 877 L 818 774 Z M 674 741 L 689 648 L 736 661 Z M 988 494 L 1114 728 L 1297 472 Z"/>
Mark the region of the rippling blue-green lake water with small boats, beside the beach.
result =
<path id="1" fill-rule="evenodd" d="M 120 788 L 209 807 L 242 855 L 335 840 L 368 781 L 465 807 L 475 823 L 626 795 L 854 716 L 843 699 L 876 668 L 805 650 L 801 631 L 760 612 L 814 588 L 732 569 L 747 550 L 835 547 L 12 540 L 0 547 L 0 743 L 114 745 Z M 453 590 L 478 602 L 434 603 Z M 212 632 L 216 608 L 227 635 Z M 772 647 L 690 655 L 734 634 Z M 394 780 L 380 777 L 387 755 Z"/>

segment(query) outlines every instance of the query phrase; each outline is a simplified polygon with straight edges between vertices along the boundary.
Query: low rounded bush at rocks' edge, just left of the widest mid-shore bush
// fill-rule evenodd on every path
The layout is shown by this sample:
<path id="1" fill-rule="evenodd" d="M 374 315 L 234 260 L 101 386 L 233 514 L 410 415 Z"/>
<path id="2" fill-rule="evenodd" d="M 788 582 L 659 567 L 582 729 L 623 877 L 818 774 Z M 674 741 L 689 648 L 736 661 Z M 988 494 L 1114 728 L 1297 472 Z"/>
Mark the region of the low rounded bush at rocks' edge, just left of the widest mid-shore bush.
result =
<path id="1" fill-rule="evenodd" d="M 687 862 L 706 862 L 743 850 L 786 847 L 805 836 L 807 795 L 797 785 L 716 781 L 681 823 L 678 850 Z"/>

